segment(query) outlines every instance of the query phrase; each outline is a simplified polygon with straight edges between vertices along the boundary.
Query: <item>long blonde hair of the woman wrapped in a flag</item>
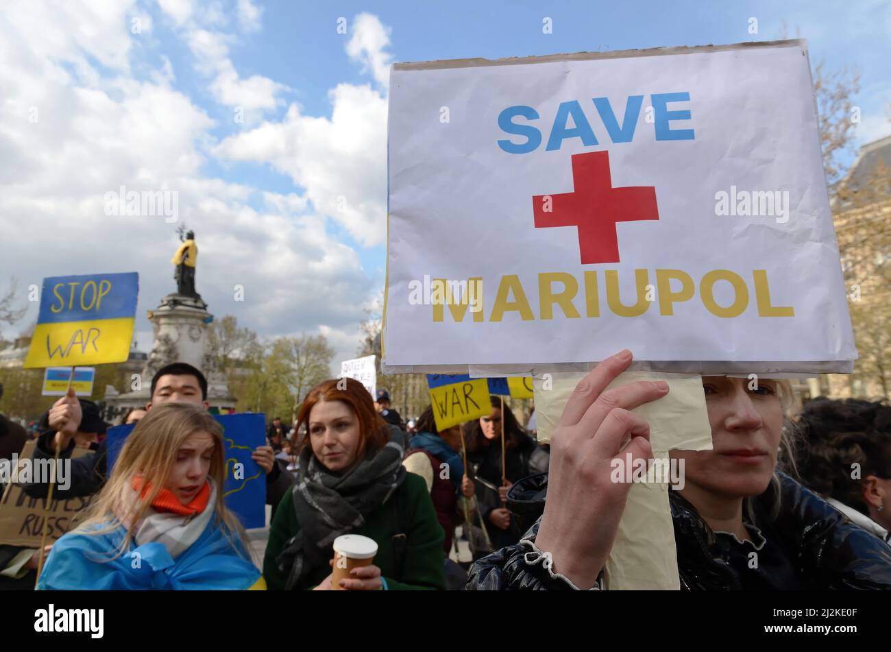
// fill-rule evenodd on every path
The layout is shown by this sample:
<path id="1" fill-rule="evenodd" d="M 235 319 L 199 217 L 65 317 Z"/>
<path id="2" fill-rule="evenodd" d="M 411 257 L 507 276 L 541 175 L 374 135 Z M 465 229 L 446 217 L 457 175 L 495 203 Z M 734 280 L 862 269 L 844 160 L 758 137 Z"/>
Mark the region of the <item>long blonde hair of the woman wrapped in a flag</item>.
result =
<path id="1" fill-rule="evenodd" d="M 85 520 L 78 526 L 78 534 L 104 534 L 123 526 L 127 528 L 116 554 L 108 561 L 119 558 L 133 541 L 135 526 L 146 515 L 173 469 L 176 452 L 185 440 L 196 432 L 207 432 L 214 439 L 214 452 L 210 458 L 208 478 L 217 485 L 214 506 L 217 524 L 241 553 L 247 550 L 244 528 L 238 518 L 226 509 L 223 500 L 225 482 L 225 447 L 223 427 L 203 407 L 195 403 L 160 403 L 152 406 L 148 414 L 127 437 L 111 476 L 102 491 L 86 511 Z M 151 485 L 144 497 L 135 495 L 133 480 L 143 478 L 143 486 Z M 135 495 L 132 503 L 127 496 Z M 238 543 L 241 543 L 239 550 Z"/>

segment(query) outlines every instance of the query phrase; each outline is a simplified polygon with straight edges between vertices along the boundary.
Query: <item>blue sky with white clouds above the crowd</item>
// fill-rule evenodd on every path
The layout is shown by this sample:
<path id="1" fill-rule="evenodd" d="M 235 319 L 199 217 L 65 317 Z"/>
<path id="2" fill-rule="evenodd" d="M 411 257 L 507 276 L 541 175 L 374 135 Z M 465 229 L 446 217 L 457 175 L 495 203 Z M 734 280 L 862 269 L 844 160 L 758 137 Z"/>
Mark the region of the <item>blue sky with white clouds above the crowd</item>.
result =
<path id="1" fill-rule="evenodd" d="M 45 276 L 136 271 L 143 350 L 146 311 L 176 288 L 169 260 L 185 223 L 217 317 L 265 336 L 321 332 L 338 360 L 355 354 L 383 289 L 393 61 L 800 36 L 812 62 L 861 71 L 858 143 L 891 134 L 888 2 L 14 7 L 0 16 L 0 290 L 12 275 L 24 296 Z M 121 186 L 176 192 L 178 221 L 107 215 Z M 33 304 L 4 334 L 36 317 Z"/>

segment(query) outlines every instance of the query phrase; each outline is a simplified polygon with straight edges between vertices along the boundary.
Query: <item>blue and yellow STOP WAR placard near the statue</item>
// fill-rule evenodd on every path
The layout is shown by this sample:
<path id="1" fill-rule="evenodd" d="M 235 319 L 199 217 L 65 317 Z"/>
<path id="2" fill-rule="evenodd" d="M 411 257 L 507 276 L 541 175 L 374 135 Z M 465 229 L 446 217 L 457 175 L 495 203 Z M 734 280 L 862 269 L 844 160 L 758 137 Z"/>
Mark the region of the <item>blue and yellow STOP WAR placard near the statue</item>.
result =
<path id="1" fill-rule="evenodd" d="M 123 363 L 130 355 L 139 274 L 44 279 L 26 369 Z"/>

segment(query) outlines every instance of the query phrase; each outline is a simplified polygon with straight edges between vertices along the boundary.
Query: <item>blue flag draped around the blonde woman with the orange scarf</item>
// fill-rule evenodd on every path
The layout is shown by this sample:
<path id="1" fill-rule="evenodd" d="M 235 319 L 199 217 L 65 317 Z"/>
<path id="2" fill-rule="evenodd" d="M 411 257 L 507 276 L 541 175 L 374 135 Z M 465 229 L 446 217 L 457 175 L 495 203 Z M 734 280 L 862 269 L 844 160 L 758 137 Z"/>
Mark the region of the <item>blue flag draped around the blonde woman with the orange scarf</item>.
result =
<path id="1" fill-rule="evenodd" d="M 247 551 L 241 544 L 233 548 L 215 520 L 176 559 L 163 544 L 151 542 L 103 561 L 115 554 L 125 534 L 123 526 L 103 534 L 65 534 L 53 545 L 37 590 L 240 591 L 262 579 Z"/>

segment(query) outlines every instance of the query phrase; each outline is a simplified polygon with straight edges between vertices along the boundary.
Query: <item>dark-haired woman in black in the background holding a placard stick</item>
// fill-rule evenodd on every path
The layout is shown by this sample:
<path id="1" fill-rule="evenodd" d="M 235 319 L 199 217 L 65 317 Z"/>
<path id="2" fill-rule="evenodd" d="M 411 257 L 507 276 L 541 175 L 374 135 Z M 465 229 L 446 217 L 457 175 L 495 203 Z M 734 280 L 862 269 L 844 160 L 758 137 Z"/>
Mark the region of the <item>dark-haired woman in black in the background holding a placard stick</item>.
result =
<path id="1" fill-rule="evenodd" d="M 548 469 L 547 453 L 520 428 L 511 408 L 498 396 L 490 396 L 492 412 L 470 424 L 467 439 L 467 460 L 476 485 L 479 505 L 474 525 L 486 528 L 495 550 L 519 541 L 522 534 L 507 509 L 507 492 L 522 477 Z M 502 429 L 504 460 L 502 461 Z M 480 546 L 478 546 L 480 548 Z M 474 558 L 486 555 L 474 550 Z"/>

